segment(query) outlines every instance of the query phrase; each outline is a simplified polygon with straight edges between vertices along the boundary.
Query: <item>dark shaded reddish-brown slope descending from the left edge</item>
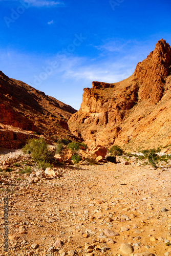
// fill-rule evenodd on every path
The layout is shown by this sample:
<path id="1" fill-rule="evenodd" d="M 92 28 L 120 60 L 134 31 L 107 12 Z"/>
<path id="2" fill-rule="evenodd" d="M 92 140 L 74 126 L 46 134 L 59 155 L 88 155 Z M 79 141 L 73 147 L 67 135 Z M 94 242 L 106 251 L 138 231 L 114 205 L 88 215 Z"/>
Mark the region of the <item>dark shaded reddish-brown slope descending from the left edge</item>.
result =
<path id="1" fill-rule="evenodd" d="M 72 138 L 67 121 L 75 112 L 71 106 L 0 71 L 0 123 L 35 131 L 54 140 Z"/>

